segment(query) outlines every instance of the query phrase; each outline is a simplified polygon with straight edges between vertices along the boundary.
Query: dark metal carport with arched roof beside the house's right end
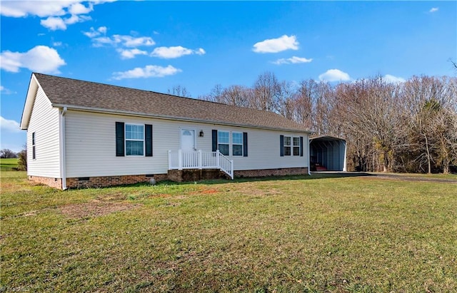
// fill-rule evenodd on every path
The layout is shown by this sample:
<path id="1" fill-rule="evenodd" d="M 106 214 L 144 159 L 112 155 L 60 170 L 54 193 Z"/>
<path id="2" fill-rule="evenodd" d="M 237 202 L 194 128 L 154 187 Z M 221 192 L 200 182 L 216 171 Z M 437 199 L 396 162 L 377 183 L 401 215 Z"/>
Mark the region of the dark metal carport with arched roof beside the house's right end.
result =
<path id="1" fill-rule="evenodd" d="M 345 171 L 346 140 L 333 136 L 309 139 L 311 171 Z"/>

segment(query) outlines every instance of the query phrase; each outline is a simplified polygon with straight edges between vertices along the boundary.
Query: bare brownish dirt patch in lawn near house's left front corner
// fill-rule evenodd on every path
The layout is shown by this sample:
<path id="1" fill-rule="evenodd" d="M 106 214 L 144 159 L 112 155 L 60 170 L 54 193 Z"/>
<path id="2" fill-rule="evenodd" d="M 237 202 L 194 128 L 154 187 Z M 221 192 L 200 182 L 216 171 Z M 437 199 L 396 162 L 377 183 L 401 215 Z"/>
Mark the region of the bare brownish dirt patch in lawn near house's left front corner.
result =
<path id="1" fill-rule="evenodd" d="M 91 202 L 64 205 L 60 208 L 62 214 L 70 218 L 98 217 L 111 214 L 111 212 L 122 212 L 140 207 L 139 204 L 129 202 L 102 202 L 93 200 Z"/>

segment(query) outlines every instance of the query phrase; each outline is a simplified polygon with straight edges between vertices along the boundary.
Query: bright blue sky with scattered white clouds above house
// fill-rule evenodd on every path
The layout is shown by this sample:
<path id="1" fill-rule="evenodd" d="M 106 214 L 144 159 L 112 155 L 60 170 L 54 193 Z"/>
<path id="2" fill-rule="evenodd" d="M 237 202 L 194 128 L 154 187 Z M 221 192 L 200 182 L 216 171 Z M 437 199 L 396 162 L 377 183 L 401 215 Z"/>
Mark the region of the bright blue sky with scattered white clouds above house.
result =
<path id="1" fill-rule="evenodd" d="M 197 98 L 222 86 L 455 76 L 456 1 L 0 1 L 1 145 L 31 72 Z"/>

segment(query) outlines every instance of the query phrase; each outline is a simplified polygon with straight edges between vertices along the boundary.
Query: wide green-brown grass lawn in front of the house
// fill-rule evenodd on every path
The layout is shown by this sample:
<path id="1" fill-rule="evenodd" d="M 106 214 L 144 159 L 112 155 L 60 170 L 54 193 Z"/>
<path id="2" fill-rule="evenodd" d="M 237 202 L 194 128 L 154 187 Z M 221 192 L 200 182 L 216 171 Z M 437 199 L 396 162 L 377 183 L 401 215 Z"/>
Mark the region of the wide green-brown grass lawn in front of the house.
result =
<path id="1" fill-rule="evenodd" d="M 456 183 L 312 178 L 62 192 L 1 173 L 1 286 L 457 292 Z"/>

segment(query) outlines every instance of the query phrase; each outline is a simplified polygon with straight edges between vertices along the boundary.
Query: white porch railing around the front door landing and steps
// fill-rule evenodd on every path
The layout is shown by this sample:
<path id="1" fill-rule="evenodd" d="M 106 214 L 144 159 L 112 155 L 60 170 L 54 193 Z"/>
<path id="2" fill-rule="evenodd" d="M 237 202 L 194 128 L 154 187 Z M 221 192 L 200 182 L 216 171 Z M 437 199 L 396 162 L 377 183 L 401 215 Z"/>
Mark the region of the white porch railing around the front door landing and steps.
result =
<path id="1" fill-rule="evenodd" d="M 183 169 L 219 169 L 233 179 L 233 160 L 222 155 L 219 150 L 169 150 L 169 170 Z"/>

